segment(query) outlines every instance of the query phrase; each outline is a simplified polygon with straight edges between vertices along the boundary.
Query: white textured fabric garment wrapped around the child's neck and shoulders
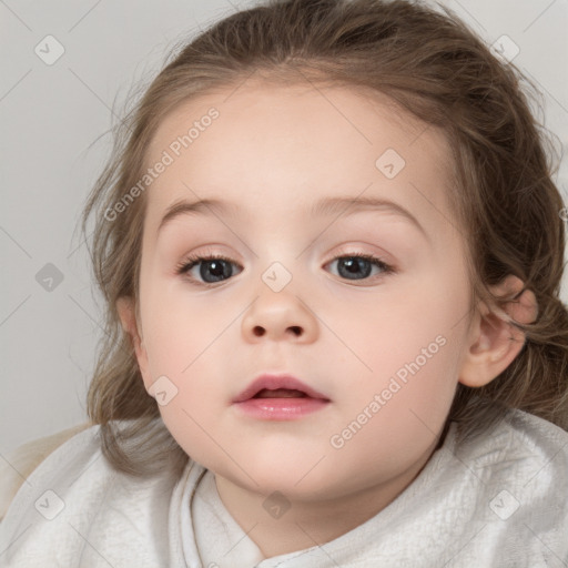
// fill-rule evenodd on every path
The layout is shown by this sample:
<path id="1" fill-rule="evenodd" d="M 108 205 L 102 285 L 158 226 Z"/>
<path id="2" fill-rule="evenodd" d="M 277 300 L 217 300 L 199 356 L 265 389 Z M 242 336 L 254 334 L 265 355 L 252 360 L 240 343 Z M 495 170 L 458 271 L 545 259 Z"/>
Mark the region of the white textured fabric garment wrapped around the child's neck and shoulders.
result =
<path id="1" fill-rule="evenodd" d="M 22 485 L 0 524 L 0 566 L 561 568 L 568 566 L 568 433 L 515 410 L 444 445 L 385 509 L 320 547 L 263 559 L 211 471 L 136 480 L 114 471 L 99 427 Z"/>

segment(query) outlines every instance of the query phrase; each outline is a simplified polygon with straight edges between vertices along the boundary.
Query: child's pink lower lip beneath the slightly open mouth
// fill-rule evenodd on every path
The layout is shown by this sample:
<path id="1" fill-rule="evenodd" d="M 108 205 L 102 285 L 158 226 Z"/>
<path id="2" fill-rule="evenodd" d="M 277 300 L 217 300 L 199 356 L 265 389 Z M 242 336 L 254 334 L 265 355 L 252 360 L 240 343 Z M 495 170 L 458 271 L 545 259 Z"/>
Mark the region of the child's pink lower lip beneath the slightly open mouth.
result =
<path id="1" fill-rule="evenodd" d="M 242 413 L 262 420 L 295 420 L 324 408 L 329 400 L 322 398 L 248 398 L 235 406 Z"/>

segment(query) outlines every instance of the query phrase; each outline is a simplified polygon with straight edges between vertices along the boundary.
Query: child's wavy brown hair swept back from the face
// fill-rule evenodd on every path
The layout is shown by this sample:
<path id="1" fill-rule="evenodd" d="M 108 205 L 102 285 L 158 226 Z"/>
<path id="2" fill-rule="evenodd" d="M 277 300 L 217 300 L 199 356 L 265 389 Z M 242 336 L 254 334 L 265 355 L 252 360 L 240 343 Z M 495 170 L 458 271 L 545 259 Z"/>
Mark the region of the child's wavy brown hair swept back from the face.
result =
<path id="1" fill-rule="evenodd" d="M 166 113 L 207 91 L 236 88 L 253 73 L 281 84 L 371 89 L 445 132 L 456 178 L 448 199 L 469 247 L 471 298 L 498 304 L 504 298 L 491 297 L 487 286 L 513 274 L 538 302 L 535 323 L 514 323 L 526 333 L 515 361 L 487 386 L 459 384 L 448 419 L 484 422 L 497 403 L 568 428 L 568 313 L 558 295 L 564 204 L 545 152 L 554 149 L 520 84 L 530 82 L 443 10 L 403 0 L 268 0 L 184 45 L 116 128 L 114 158 L 82 219 L 87 233 L 94 214 L 91 256 L 106 302 L 88 412 L 116 468 L 149 475 L 161 467 L 159 457 L 181 467 L 187 456 L 159 419 L 115 307 L 121 296 L 138 306 L 144 195 L 118 221 L 105 212 L 143 175 L 146 148 Z"/>

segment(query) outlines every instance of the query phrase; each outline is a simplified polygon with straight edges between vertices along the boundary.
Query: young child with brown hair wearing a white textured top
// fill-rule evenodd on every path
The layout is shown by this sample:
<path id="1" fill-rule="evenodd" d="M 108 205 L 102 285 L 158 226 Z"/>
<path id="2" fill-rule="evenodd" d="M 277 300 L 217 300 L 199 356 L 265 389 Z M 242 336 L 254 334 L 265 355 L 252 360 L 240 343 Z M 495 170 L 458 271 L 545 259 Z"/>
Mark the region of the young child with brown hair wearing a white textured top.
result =
<path id="1" fill-rule="evenodd" d="M 562 201 L 518 77 L 403 0 L 186 45 L 87 204 L 91 424 L 3 566 L 568 566 Z"/>

